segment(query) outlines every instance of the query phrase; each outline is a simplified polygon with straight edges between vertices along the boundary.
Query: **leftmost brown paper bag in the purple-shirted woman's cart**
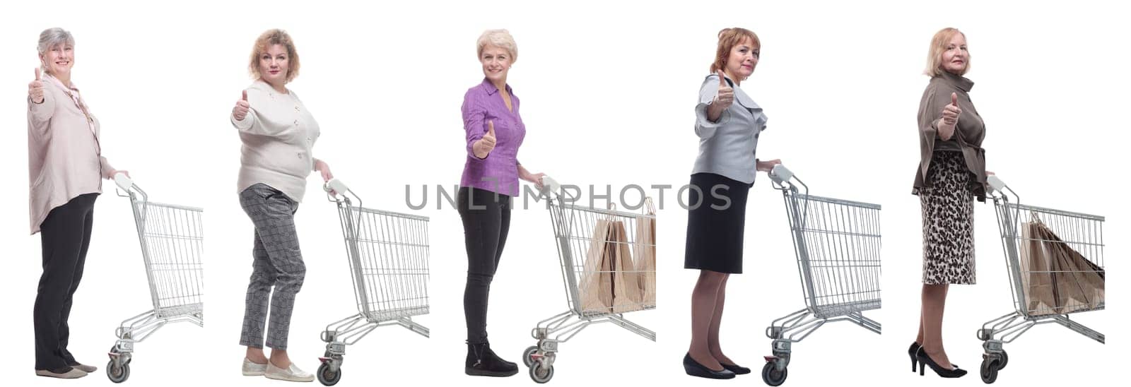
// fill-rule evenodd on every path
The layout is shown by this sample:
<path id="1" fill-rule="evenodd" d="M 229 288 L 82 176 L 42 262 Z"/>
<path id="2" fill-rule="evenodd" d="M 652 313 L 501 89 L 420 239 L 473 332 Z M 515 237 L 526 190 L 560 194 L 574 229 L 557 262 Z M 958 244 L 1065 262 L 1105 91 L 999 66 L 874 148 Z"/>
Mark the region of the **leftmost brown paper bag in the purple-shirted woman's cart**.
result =
<path id="1" fill-rule="evenodd" d="M 610 249 L 608 234 L 613 230 L 608 220 L 597 220 L 589 240 L 589 249 L 585 255 L 581 278 L 578 283 L 578 295 L 581 299 L 582 311 L 607 312 L 613 307 L 613 250 Z"/>

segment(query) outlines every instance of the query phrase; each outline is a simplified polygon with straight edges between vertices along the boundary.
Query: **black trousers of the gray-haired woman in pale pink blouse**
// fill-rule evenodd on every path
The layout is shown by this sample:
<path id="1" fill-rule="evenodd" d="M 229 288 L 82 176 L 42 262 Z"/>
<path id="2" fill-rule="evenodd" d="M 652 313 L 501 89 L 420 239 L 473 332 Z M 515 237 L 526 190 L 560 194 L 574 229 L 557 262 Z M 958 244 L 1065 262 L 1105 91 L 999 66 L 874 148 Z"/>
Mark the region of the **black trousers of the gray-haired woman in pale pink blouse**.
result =
<path id="1" fill-rule="evenodd" d="M 67 351 L 70 338 L 71 301 L 90 246 L 94 199 L 98 194 L 80 195 L 55 207 L 40 224 L 43 247 L 43 275 L 35 296 L 35 369 L 63 370 L 78 364 Z"/>

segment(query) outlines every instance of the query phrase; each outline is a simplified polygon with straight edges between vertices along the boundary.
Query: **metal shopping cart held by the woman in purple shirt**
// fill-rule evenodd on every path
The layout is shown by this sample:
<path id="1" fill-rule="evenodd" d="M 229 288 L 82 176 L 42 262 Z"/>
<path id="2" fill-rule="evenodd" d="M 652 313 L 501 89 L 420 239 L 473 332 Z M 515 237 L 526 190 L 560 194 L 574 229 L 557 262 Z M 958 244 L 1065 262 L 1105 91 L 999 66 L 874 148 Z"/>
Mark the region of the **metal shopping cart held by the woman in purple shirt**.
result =
<path id="1" fill-rule="evenodd" d="M 640 257 L 645 249 L 655 251 L 655 240 L 638 240 L 637 224 L 638 222 L 653 223 L 656 216 L 577 206 L 572 204 L 576 198 L 563 197 L 561 186 L 553 179 L 544 177 L 542 181 L 544 186 L 543 198 L 547 200 L 550 220 L 558 244 L 558 257 L 561 261 L 562 281 L 566 286 L 566 303 L 569 306 L 569 310 L 538 321 L 530 332 L 530 335 L 537 339 L 537 345 L 523 352 L 523 363 L 529 367 L 530 379 L 539 384 L 550 381 L 554 376 L 558 344 L 569 341 L 590 325 L 613 322 L 647 339 L 656 341 L 656 333 L 624 318 L 627 312 L 655 309 L 654 298 L 651 300 L 615 302 L 615 307 L 593 306 L 582 302 L 587 294 L 579 290 L 592 278 L 601 275 L 615 275 L 611 270 L 586 268 L 586 263 L 589 259 L 597 258 L 593 253 L 595 247 L 604 246 L 621 251 L 630 250 L 633 257 Z M 624 225 L 620 231 L 622 238 L 615 238 L 615 240 L 613 238 L 595 239 L 594 233 L 599 233 L 598 229 L 608 224 Z M 650 275 L 653 278 L 656 275 L 655 267 L 651 270 L 630 270 L 628 273 L 637 276 Z M 573 318 L 577 319 L 572 320 Z"/>

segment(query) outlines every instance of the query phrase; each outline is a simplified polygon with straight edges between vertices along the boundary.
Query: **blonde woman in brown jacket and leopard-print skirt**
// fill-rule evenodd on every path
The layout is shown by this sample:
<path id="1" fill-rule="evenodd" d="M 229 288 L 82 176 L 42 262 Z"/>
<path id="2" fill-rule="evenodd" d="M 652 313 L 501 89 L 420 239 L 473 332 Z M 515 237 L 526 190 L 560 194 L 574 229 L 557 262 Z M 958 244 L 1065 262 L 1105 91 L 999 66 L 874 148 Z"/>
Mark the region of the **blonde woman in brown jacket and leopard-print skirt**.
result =
<path id="1" fill-rule="evenodd" d="M 966 370 L 950 362 L 942 346 L 942 313 L 950 284 L 974 284 L 974 199 L 985 201 L 985 123 L 970 102 L 974 83 L 966 35 L 943 28 L 931 40 L 918 111 L 922 157 L 912 194 L 923 212 L 923 295 L 920 329 L 908 349 L 912 371 L 930 366 L 957 378 Z"/>

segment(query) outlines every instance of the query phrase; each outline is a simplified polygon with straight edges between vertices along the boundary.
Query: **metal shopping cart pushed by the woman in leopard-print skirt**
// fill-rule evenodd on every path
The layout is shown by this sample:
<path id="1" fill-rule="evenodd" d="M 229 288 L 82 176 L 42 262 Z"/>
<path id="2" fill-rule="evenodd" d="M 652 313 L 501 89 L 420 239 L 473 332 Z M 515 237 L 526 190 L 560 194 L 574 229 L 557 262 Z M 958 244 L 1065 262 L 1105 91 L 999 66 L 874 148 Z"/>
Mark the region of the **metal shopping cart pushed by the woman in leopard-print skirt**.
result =
<path id="1" fill-rule="evenodd" d="M 1091 339 L 1104 343 L 1104 334 L 1093 330 L 1080 322 L 1073 321 L 1069 315 L 1103 310 L 1104 301 L 1100 293 L 1091 302 L 1069 299 L 1064 303 L 1048 304 L 1042 298 L 1031 294 L 1042 277 L 1052 275 L 1065 276 L 1076 286 L 1083 283 L 1077 278 L 1103 276 L 1104 273 L 1104 217 L 1070 213 L 1065 210 L 1021 205 L 1017 192 L 1005 186 L 996 175 L 987 179 L 991 198 L 998 214 L 998 229 L 1001 232 L 1002 249 L 1005 253 L 1005 273 L 1010 280 L 1010 291 L 1013 295 L 1013 311 L 987 321 L 978 329 L 985 353 L 982 355 L 982 381 L 992 384 L 998 380 L 998 371 L 1009 363 L 1009 355 L 1002 347 L 1011 343 L 1034 326 L 1042 324 L 1060 324 Z M 1009 191 L 1007 195 L 1005 191 Z M 1051 234 L 1034 235 L 1028 227 L 1039 224 Z M 1080 260 L 1087 259 L 1085 267 L 1054 270 L 1034 267 L 1027 257 L 1039 253 L 1042 247 L 1067 248 Z M 1034 286 L 1037 285 L 1037 286 Z M 1102 282 L 1099 292 L 1103 292 Z M 1065 291 L 1067 293 L 1067 291 Z"/>

